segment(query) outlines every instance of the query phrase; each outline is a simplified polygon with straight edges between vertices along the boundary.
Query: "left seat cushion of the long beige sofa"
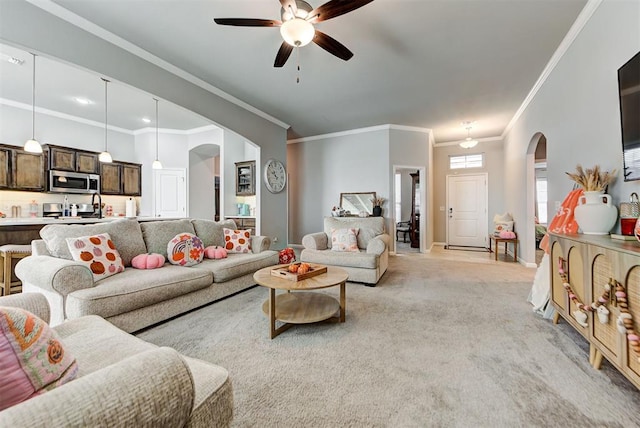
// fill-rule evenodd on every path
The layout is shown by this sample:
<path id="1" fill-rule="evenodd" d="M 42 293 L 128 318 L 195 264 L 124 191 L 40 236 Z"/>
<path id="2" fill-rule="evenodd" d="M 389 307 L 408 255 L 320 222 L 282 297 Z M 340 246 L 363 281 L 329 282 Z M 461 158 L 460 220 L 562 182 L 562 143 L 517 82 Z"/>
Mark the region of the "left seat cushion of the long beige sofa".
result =
<path id="1" fill-rule="evenodd" d="M 210 271 L 195 267 L 167 264 L 153 270 L 127 268 L 95 287 L 70 293 L 67 317 L 95 314 L 108 318 L 206 288 L 212 282 Z"/>

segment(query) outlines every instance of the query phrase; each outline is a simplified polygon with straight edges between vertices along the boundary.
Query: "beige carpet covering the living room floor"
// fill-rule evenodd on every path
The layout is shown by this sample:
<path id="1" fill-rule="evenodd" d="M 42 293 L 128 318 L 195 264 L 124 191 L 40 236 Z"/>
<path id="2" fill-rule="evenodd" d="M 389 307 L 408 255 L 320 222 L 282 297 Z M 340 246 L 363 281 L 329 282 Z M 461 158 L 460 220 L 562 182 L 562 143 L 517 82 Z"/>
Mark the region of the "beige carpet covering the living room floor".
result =
<path id="1" fill-rule="evenodd" d="M 257 287 L 138 336 L 227 368 L 238 427 L 640 426 L 640 392 L 533 314 L 533 275 L 391 257 L 377 287 L 347 285 L 344 324 L 270 340 Z"/>

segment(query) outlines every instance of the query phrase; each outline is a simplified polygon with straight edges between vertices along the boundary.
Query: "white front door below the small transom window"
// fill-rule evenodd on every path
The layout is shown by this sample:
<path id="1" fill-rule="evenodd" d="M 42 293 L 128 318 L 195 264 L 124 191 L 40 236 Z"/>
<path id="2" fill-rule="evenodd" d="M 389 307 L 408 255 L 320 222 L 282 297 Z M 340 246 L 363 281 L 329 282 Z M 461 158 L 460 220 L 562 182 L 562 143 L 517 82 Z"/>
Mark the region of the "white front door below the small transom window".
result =
<path id="1" fill-rule="evenodd" d="M 487 174 L 447 176 L 447 245 L 487 246 Z"/>

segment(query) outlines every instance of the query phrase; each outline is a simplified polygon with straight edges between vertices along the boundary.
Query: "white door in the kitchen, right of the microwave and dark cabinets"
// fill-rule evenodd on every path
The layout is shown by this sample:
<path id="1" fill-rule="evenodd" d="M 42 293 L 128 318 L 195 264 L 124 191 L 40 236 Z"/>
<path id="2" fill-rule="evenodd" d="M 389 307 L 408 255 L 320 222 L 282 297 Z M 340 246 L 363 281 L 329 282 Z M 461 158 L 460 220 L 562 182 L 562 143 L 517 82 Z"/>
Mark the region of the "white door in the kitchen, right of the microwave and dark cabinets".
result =
<path id="1" fill-rule="evenodd" d="M 184 169 L 154 171 L 154 216 L 187 216 L 187 180 Z"/>

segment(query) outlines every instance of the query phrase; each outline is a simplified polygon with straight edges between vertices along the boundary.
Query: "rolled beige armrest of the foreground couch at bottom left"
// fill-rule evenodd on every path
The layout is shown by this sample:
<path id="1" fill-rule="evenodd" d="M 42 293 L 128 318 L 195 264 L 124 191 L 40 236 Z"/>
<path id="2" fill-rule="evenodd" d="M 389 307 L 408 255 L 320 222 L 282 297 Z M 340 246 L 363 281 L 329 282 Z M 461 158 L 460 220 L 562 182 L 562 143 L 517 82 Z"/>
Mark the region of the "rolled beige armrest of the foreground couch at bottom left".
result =
<path id="1" fill-rule="evenodd" d="M 0 412 L 13 427 L 187 425 L 191 373 L 171 348 L 133 355 Z"/>

